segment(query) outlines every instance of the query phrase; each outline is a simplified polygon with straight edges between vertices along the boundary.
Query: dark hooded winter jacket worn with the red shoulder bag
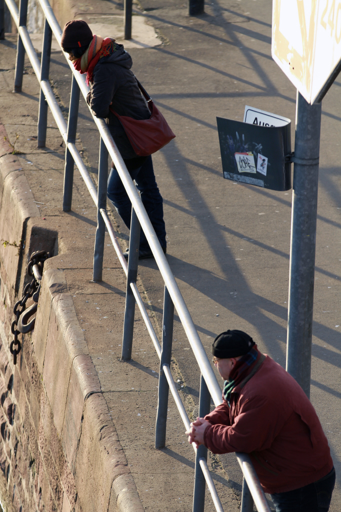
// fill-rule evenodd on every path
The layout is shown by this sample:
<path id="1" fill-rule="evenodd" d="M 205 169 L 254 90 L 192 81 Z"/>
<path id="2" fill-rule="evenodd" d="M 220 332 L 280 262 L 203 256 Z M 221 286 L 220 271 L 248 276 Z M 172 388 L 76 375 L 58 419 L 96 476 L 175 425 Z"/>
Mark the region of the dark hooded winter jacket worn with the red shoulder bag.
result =
<path id="1" fill-rule="evenodd" d="M 110 133 L 123 159 L 136 158 L 129 139 L 117 117 L 109 110 L 111 108 L 120 116 L 134 119 L 149 119 L 150 110 L 142 98 L 136 78 L 131 71 L 132 57 L 123 45 L 117 43 L 116 50 L 108 57 L 102 57 L 94 69 L 94 80 L 88 94 L 88 104 L 96 117 L 107 119 Z"/>

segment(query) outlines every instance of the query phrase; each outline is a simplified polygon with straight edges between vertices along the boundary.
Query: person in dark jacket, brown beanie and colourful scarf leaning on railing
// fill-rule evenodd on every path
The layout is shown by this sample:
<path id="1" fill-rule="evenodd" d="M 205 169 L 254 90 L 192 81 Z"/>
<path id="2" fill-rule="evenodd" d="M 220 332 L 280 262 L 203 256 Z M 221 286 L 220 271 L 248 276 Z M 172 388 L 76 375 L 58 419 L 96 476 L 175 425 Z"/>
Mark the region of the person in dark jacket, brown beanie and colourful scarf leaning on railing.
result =
<path id="1" fill-rule="evenodd" d="M 123 126 L 115 114 L 134 119 L 149 119 L 147 104 L 140 94 L 131 71 L 132 58 L 115 39 L 92 34 L 88 24 L 76 19 L 68 22 L 62 33 L 61 46 L 80 73 L 87 73 L 91 90 L 87 102 L 96 117 L 107 119 L 110 133 L 124 163 L 140 191 L 142 203 L 155 229 L 163 252 L 166 252 L 166 230 L 163 220 L 163 201 L 158 189 L 152 156 L 136 155 Z M 130 229 L 131 201 L 112 162 L 108 180 L 108 197 L 125 225 Z M 124 253 L 128 257 L 128 250 Z M 151 258 L 153 253 L 141 229 L 139 259 Z"/>

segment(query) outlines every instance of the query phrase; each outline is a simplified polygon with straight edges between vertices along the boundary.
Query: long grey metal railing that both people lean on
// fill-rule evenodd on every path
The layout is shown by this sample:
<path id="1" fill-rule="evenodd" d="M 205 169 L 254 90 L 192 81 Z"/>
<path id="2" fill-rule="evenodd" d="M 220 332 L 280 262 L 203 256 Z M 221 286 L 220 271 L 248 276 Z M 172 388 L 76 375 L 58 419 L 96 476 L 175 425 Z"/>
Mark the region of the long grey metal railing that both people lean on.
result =
<path id="1" fill-rule="evenodd" d="M 0 3 L 2 3 L 3 1 L 4 0 L 0 0 Z M 55 99 L 55 96 L 49 83 L 52 33 L 54 34 L 60 46 L 62 30 L 57 22 L 57 19 L 53 13 L 53 10 L 48 0 L 39 0 L 40 6 L 45 15 L 41 62 L 39 62 L 39 59 L 33 48 L 30 36 L 26 28 L 28 0 L 20 0 L 19 10 L 15 5 L 14 0 L 5 0 L 5 2 L 10 10 L 10 13 L 18 29 L 14 91 L 20 92 L 22 90 L 25 52 L 27 53 L 30 59 L 35 75 L 40 83 L 37 136 L 38 147 L 45 147 L 46 144 L 48 106 L 56 121 L 63 141 L 66 144 L 62 206 L 63 211 L 71 210 L 74 164 L 76 164 L 76 166 L 78 167 L 78 170 L 84 180 L 84 183 L 88 187 L 89 193 L 97 206 L 97 228 L 94 247 L 93 279 L 94 281 L 101 281 L 102 279 L 105 227 L 108 229 L 118 259 L 122 265 L 125 275 L 127 276 L 123 324 L 122 359 L 129 360 L 131 358 L 135 302 L 137 303 L 141 311 L 148 333 L 152 338 L 152 342 L 160 358 L 155 446 L 157 448 L 161 448 L 165 445 L 166 440 L 166 421 L 169 390 L 171 390 L 176 406 L 179 410 L 181 419 L 187 430 L 189 429 L 190 423 L 186 410 L 183 406 L 181 397 L 178 393 L 175 382 L 173 380 L 170 369 L 173 340 L 174 308 L 176 308 L 178 312 L 180 321 L 185 330 L 189 344 L 194 352 L 194 355 L 196 357 L 196 360 L 201 371 L 199 397 L 200 416 L 204 416 L 205 414 L 209 413 L 211 397 L 216 406 L 222 402 L 222 393 L 219 383 L 211 367 L 210 361 L 206 355 L 204 347 L 201 343 L 201 340 L 199 338 L 193 320 L 189 314 L 187 306 L 183 300 L 181 292 L 178 288 L 173 272 L 171 268 L 169 268 L 168 262 L 159 244 L 152 224 L 144 209 L 138 191 L 132 181 L 129 172 L 127 171 L 124 161 L 109 132 L 108 126 L 105 124 L 104 119 L 96 118 L 91 112 L 91 110 L 90 112 L 100 133 L 98 190 L 96 190 L 96 187 L 88 173 L 88 170 L 77 151 L 75 140 L 78 119 L 79 97 L 81 92 L 84 98 L 86 98 L 89 88 L 86 85 L 85 77 L 83 75 L 80 75 L 80 73 L 78 73 L 77 71 L 75 71 L 72 63 L 67 58 L 68 55 L 65 54 L 67 62 L 69 63 L 70 69 L 73 74 L 69 118 L 68 124 L 66 124 L 66 121 L 63 118 L 63 115 L 60 111 L 60 108 L 58 106 L 58 103 Z M 0 31 L 1 29 L 2 27 L 0 27 Z M 132 202 L 132 219 L 130 229 L 128 263 L 126 263 L 125 258 L 123 257 L 121 248 L 116 238 L 115 231 L 110 222 L 108 213 L 106 212 L 108 155 L 110 155 L 110 157 L 114 161 L 115 167 L 122 180 L 127 195 L 129 196 Z M 148 316 L 148 313 L 144 307 L 142 298 L 140 296 L 136 284 L 138 271 L 138 248 L 141 227 L 143 228 L 148 243 L 150 244 L 150 247 L 154 254 L 155 261 L 158 265 L 158 268 L 161 272 L 162 278 L 165 283 L 162 346 L 160 346 L 159 340 L 154 331 L 150 317 Z M 216 509 L 219 512 L 223 512 L 223 508 L 219 496 L 217 494 L 214 482 L 208 470 L 207 449 L 203 445 L 199 446 L 198 449 L 194 445 L 193 447 L 196 452 L 193 510 L 194 512 L 203 512 L 204 510 L 204 481 L 206 480 Z M 251 512 L 251 510 L 253 510 L 253 502 L 260 512 L 269 512 L 269 505 L 267 503 L 259 478 L 254 471 L 249 456 L 247 454 L 242 453 L 237 453 L 236 455 L 243 472 L 243 491 L 241 507 L 242 512 Z"/>

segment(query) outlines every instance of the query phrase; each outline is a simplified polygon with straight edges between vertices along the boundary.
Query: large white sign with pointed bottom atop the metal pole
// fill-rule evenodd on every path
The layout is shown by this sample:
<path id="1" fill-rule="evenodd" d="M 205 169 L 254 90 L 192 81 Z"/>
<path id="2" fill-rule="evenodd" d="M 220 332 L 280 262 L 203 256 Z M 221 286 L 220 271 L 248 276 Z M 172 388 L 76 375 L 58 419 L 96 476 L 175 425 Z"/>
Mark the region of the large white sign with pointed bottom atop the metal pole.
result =
<path id="1" fill-rule="evenodd" d="M 341 69 L 341 0 L 273 0 L 271 53 L 308 103 L 321 101 Z"/>

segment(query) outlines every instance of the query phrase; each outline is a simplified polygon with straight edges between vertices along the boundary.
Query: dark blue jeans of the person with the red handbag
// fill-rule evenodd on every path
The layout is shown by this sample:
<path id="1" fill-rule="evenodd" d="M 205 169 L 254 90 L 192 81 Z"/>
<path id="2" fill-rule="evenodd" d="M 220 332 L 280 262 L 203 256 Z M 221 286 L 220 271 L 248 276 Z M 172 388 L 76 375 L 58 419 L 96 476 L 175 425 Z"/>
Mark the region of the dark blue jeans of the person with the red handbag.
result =
<path id="1" fill-rule="evenodd" d="M 129 170 L 136 187 L 140 191 L 143 206 L 155 229 L 161 247 L 166 247 L 166 230 L 163 221 L 162 196 L 155 181 L 152 157 L 148 156 L 140 167 Z M 115 206 L 124 224 L 130 229 L 132 203 L 125 191 L 121 178 L 115 168 L 111 169 L 108 180 L 108 197 Z M 140 249 L 150 249 L 145 234 L 141 229 Z"/>

